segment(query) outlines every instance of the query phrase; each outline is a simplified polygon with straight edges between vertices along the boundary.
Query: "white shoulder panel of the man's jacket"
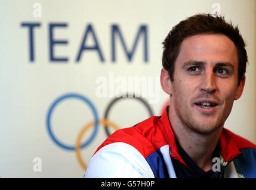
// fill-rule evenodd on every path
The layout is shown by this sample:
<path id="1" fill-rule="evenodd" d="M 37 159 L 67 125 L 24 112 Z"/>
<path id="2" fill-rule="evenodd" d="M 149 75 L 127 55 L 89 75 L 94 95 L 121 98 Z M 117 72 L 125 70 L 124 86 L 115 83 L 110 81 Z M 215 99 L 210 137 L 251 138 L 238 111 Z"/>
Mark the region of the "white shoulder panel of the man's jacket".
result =
<path id="1" fill-rule="evenodd" d="M 131 145 L 112 143 L 101 148 L 88 163 L 84 178 L 154 178 L 149 163 Z"/>

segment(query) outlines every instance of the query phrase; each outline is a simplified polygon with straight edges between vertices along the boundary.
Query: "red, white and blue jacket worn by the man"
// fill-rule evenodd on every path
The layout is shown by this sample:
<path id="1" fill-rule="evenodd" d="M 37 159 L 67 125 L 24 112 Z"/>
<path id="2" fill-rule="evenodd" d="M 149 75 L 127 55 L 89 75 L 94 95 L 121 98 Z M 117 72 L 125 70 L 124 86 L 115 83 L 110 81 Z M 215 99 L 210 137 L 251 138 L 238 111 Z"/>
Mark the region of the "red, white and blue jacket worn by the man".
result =
<path id="1" fill-rule="evenodd" d="M 256 178 L 256 145 L 228 129 L 220 136 L 224 178 Z M 119 129 L 95 151 L 85 178 L 176 178 L 171 159 L 178 154 L 165 110 L 130 128 Z"/>

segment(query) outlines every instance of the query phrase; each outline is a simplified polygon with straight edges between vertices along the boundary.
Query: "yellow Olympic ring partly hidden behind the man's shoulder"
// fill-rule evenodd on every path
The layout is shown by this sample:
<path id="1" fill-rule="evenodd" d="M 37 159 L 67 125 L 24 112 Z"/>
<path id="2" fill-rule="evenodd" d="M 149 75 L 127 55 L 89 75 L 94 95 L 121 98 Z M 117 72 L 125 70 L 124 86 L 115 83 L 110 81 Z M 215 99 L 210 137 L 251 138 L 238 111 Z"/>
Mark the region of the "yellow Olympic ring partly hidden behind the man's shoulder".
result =
<path id="1" fill-rule="evenodd" d="M 113 124 L 112 122 L 107 121 L 107 119 L 101 119 L 99 121 L 99 124 L 112 126 L 112 128 L 116 130 L 119 129 L 119 127 L 116 124 Z M 84 161 L 82 160 L 81 153 L 80 153 L 80 144 L 81 144 L 82 136 L 84 135 L 84 133 L 93 125 L 94 125 L 94 122 L 90 122 L 89 124 L 85 125 L 84 128 L 82 128 L 82 130 L 79 132 L 78 138 L 76 139 L 76 147 L 75 147 L 76 157 L 78 157 L 79 164 L 81 164 L 82 168 L 84 168 L 85 170 L 87 169 L 87 164 L 85 164 Z"/>

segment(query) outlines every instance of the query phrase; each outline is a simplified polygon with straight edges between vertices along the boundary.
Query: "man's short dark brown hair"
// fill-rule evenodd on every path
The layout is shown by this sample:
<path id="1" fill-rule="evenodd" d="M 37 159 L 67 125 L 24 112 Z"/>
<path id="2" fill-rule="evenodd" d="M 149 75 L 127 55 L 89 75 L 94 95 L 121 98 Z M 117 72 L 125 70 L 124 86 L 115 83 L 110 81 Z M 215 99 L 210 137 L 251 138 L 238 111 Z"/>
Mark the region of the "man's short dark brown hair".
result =
<path id="1" fill-rule="evenodd" d="M 171 81 L 174 81 L 174 63 L 180 52 L 180 46 L 186 37 L 196 34 L 224 34 L 235 43 L 238 52 L 238 84 L 245 75 L 246 63 L 248 62 L 245 42 L 239 32 L 238 26 L 232 22 L 227 23 L 224 17 L 211 14 L 196 14 L 181 21 L 169 31 L 165 38 L 162 65 L 168 71 Z"/>

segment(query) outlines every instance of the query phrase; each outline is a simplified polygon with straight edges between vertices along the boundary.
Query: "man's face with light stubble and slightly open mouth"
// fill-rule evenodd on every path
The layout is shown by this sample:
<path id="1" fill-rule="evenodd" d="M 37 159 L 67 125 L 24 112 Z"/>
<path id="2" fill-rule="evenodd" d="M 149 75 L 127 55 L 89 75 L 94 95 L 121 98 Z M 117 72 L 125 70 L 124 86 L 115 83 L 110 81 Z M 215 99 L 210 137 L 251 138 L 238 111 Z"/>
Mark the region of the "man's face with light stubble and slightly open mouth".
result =
<path id="1" fill-rule="evenodd" d="M 188 37 L 175 61 L 171 112 L 180 124 L 208 134 L 224 125 L 244 83 L 245 78 L 238 85 L 238 55 L 232 40 L 223 34 Z"/>

